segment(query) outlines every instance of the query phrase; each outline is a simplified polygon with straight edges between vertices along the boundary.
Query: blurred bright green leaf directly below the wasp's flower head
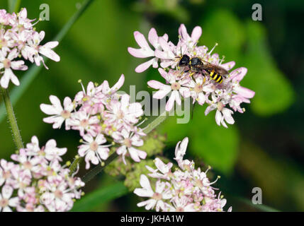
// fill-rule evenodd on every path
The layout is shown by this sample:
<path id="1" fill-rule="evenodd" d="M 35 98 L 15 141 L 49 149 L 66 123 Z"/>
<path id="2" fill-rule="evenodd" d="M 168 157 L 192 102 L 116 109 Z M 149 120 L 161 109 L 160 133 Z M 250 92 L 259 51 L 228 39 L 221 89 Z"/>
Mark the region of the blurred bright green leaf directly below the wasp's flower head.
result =
<path id="1" fill-rule="evenodd" d="M 187 153 L 202 157 L 204 162 L 225 174 L 229 174 L 235 165 L 239 136 L 236 126 L 226 129 L 215 123 L 215 112 L 206 117 L 204 109 L 196 106 L 193 120 L 188 124 L 176 124 L 176 117 L 169 117 L 160 126 L 162 133 L 167 133 L 167 140 L 172 145 L 188 136 Z"/>

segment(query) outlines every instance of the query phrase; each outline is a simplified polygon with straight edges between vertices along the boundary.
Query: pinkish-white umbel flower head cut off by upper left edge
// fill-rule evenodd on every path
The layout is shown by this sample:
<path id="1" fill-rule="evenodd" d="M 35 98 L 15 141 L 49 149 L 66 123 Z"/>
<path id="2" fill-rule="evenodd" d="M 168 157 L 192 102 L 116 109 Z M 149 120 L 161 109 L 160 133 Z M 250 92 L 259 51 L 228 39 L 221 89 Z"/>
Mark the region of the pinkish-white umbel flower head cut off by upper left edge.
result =
<path id="1" fill-rule="evenodd" d="M 9 81 L 20 85 L 13 71 L 28 70 L 23 59 L 40 66 L 41 62 L 47 69 L 43 56 L 60 61 L 60 57 L 52 50 L 58 42 L 40 44 L 45 32 L 37 32 L 34 28 L 35 20 L 28 19 L 26 8 L 19 13 L 6 13 L 0 9 L 0 85 L 9 87 Z"/>

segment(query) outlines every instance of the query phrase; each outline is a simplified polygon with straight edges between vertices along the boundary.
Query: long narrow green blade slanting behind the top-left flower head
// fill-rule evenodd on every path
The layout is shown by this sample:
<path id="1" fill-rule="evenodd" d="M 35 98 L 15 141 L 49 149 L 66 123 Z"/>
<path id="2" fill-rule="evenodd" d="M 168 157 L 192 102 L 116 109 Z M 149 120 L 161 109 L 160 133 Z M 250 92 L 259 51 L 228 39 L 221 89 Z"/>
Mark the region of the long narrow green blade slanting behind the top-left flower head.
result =
<path id="1" fill-rule="evenodd" d="M 62 30 L 60 30 L 60 32 L 56 35 L 54 40 L 60 42 L 62 38 L 67 35 L 69 29 L 72 28 L 72 25 L 77 21 L 77 19 L 82 15 L 82 13 L 86 11 L 86 8 L 88 8 L 93 1 L 94 0 L 86 0 L 84 4 L 81 5 L 81 8 L 79 8 L 79 10 L 74 13 L 72 18 L 67 21 Z M 46 62 L 47 58 L 44 58 L 44 60 Z M 38 75 L 42 68 L 43 66 L 30 66 L 30 69 L 24 74 L 23 78 L 21 78 L 21 85 L 19 85 L 18 87 L 14 87 L 13 90 L 11 90 L 10 96 L 12 105 L 15 105 L 19 98 L 23 95 L 23 93 L 26 92 L 30 83 L 32 83 L 32 81 L 35 79 L 35 77 Z M 2 103 L 0 106 L 0 122 L 4 119 L 4 117 L 5 106 L 4 103 Z"/>

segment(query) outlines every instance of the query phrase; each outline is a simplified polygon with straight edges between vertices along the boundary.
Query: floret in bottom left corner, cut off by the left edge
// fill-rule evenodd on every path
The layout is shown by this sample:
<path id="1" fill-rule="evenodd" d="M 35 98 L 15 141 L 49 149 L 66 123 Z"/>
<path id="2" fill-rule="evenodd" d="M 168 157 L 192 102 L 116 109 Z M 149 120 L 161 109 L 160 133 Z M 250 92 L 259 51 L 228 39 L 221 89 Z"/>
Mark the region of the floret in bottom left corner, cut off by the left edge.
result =
<path id="1" fill-rule="evenodd" d="M 19 198 L 11 198 L 13 188 L 9 185 L 4 185 L 0 194 L 0 211 L 11 212 L 11 208 L 16 208 L 19 203 Z"/>

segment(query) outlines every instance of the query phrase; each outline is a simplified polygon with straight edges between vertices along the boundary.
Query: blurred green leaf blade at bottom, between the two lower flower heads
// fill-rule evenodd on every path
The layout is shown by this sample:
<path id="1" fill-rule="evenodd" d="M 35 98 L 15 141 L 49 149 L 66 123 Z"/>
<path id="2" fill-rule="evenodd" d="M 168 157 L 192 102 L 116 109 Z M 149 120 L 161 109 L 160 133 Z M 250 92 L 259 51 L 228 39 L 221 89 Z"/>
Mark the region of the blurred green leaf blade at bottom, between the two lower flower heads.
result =
<path id="1" fill-rule="evenodd" d="M 123 185 L 123 182 L 111 184 L 102 189 L 97 189 L 89 194 L 86 194 L 84 198 L 74 203 L 73 212 L 91 211 L 96 206 L 101 205 L 107 201 L 111 201 L 115 198 L 119 198 L 128 194 L 128 189 Z"/>

